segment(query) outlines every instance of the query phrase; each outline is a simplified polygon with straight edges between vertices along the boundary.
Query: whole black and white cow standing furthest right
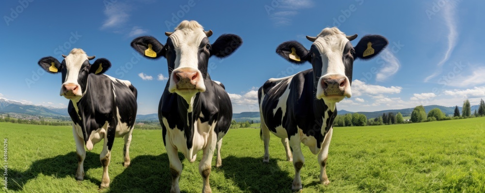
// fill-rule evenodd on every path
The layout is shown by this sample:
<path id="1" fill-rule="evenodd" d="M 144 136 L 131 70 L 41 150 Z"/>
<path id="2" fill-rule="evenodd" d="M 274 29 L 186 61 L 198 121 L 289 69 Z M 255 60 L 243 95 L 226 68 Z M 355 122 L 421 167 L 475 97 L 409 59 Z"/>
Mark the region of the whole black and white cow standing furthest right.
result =
<path id="1" fill-rule="evenodd" d="M 350 41 L 356 37 L 357 34 L 346 36 L 337 28 L 325 28 L 316 37 L 307 36 L 313 42 L 310 50 L 296 41 L 282 43 L 276 48 L 276 53 L 294 64 L 309 62 L 312 69 L 270 79 L 259 88 L 263 162 L 269 161 L 271 131 L 281 138 L 287 160 L 293 161 L 293 190 L 302 189 L 300 169 L 305 158 L 301 143 L 307 145 L 313 154 L 318 154 L 320 182 L 325 185 L 330 183 L 325 164 L 333 121 L 337 116 L 336 103 L 352 96 L 350 86 L 354 59 L 371 59 L 388 45 L 383 36 L 366 35 L 353 47 Z"/>

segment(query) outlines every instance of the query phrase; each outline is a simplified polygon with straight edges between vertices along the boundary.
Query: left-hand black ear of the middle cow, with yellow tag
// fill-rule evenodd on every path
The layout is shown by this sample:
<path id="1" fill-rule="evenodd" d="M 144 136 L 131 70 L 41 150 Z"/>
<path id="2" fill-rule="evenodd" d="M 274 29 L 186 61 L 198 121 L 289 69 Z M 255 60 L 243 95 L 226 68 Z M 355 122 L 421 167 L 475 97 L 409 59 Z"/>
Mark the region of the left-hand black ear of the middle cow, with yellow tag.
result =
<path id="1" fill-rule="evenodd" d="M 163 44 L 152 36 L 141 36 L 131 41 L 131 48 L 135 49 L 142 56 L 148 59 L 159 59 L 165 57 Z"/>

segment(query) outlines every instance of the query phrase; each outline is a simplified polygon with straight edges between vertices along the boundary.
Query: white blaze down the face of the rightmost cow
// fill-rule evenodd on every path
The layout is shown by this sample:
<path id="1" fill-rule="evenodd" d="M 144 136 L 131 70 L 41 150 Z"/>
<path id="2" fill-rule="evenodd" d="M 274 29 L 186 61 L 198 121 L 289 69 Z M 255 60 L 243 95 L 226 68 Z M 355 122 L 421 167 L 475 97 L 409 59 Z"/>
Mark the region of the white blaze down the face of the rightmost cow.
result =
<path id="1" fill-rule="evenodd" d="M 343 49 L 349 40 L 345 37 L 343 32 L 337 28 L 325 28 L 317 36 L 318 38 L 313 42 L 322 57 L 322 76 L 320 77 L 317 86 L 317 99 L 324 98 L 323 88 L 320 86 L 322 80 L 329 78 L 345 78 L 345 92 L 344 96 L 351 97 L 349 79 L 345 76 L 345 66 L 342 61 Z M 343 97 L 341 97 L 343 99 Z M 340 98 L 337 99 L 339 102 Z"/>

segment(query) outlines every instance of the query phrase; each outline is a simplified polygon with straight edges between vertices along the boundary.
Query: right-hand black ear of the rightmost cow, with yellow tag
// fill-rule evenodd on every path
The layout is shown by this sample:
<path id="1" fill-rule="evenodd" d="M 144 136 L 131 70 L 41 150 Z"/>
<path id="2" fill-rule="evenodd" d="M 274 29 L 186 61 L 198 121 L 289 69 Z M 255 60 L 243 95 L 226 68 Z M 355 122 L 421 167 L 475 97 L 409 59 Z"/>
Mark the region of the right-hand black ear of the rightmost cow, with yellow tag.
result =
<path id="1" fill-rule="evenodd" d="M 360 58 L 362 60 L 372 59 L 386 48 L 388 44 L 388 39 L 381 35 L 366 35 L 354 47 L 356 50 L 354 58 Z"/>

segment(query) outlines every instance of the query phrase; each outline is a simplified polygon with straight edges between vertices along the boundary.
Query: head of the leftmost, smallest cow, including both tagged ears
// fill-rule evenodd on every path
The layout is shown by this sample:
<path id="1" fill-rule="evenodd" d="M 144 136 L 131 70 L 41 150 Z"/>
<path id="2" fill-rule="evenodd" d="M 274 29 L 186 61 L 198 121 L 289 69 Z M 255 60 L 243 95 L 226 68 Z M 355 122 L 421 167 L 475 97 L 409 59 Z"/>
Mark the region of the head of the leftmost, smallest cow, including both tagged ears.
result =
<path id="1" fill-rule="evenodd" d="M 89 64 L 96 56 L 87 56 L 82 49 L 74 48 L 69 55 L 62 55 L 64 60 L 59 62 L 52 56 L 39 60 L 39 65 L 49 73 L 62 74 L 61 96 L 78 101 L 86 92 L 88 76 L 102 74 L 111 67 L 110 61 L 100 58 L 94 64 Z"/>

